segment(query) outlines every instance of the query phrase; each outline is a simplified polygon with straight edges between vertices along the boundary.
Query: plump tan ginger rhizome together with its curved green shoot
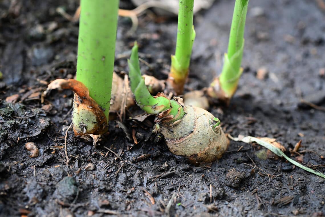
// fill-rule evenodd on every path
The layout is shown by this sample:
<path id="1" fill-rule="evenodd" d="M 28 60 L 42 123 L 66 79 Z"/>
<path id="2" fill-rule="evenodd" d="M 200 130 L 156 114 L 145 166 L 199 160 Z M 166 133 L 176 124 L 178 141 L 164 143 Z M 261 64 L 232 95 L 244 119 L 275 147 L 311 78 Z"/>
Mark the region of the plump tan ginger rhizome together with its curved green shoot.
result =
<path id="1" fill-rule="evenodd" d="M 204 109 L 184 105 L 182 98 L 169 100 L 162 93 L 153 97 L 141 76 L 136 43 L 128 65 L 136 103 L 148 114 L 157 115 L 154 130 L 164 135 L 169 150 L 194 164 L 219 159 L 228 146 L 219 119 Z"/>

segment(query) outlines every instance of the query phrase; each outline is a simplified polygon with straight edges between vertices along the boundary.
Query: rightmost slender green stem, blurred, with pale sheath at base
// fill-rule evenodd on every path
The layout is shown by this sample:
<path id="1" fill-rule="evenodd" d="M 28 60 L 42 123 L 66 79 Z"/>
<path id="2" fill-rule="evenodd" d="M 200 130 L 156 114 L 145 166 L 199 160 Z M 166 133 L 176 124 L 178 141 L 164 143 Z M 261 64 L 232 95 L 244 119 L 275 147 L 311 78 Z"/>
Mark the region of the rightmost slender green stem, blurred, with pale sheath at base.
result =
<path id="1" fill-rule="evenodd" d="M 238 85 L 242 69 L 241 59 L 244 51 L 244 30 L 248 0 L 236 0 L 229 35 L 228 54 L 219 77 L 223 91 L 231 97 Z"/>

